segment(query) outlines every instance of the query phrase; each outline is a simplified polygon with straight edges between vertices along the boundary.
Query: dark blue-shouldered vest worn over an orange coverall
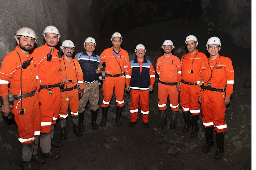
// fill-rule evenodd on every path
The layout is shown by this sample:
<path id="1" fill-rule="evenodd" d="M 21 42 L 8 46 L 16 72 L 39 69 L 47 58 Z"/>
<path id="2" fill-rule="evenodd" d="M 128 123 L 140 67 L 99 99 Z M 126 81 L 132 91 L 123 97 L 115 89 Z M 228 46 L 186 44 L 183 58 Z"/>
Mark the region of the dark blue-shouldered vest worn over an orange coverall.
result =
<path id="1" fill-rule="evenodd" d="M 132 77 L 130 88 L 135 90 L 148 90 L 150 85 L 149 79 L 149 70 L 150 70 L 150 61 L 144 58 L 142 63 L 142 70 L 140 74 L 140 64 L 138 63 L 137 58 L 131 61 Z"/>

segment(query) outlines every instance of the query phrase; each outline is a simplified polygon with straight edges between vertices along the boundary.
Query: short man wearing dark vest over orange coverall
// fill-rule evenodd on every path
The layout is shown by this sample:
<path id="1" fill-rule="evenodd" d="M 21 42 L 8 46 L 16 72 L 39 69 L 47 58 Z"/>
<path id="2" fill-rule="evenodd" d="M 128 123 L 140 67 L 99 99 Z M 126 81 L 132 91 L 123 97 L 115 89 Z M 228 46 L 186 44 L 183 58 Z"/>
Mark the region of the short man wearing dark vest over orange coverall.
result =
<path id="1" fill-rule="evenodd" d="M 133 128 L 138 119 L 138 102 L 140 100 L 140 108 L 144 128 L 148 128 L 149 115 L 149 92 L 153 90 L 155 84 L 155 70 L 152 63 L 146 60 L 146 48 L 143 44 L 138 44 L 135 48 L 137 58 L 132 60 L 126 72 L 126 90 L 131 91 L 131 123 Z"/>

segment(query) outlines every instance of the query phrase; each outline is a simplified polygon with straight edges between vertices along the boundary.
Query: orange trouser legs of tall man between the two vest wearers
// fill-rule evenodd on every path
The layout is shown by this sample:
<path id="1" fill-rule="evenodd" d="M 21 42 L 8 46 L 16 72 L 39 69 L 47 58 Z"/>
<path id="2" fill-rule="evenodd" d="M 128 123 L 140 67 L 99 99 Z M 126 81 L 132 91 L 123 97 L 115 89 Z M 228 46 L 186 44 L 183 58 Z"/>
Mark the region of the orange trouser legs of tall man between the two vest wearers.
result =
<path id="1" fill-rule="evenodd" d="M 124 76 L 119 77 L 106 77 L 102 86 L 103 101 L 101 107 L 108 107 L 110 100 L 113 96 L 113 90 L 115 87 L 116 106 L 124 106 Z"/>

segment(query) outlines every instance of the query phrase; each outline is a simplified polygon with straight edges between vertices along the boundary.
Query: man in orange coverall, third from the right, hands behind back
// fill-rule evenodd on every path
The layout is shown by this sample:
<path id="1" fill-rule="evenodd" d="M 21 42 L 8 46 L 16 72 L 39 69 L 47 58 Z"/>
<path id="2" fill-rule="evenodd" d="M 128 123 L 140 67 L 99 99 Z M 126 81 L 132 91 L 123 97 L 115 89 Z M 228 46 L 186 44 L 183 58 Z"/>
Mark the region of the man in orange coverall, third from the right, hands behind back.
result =
<path id="1" fill-rule="evenodd" d="M 164 126 L 166 125 L 165 111 L 167 108 L 167 97 L 169 95 L 170 107 L 172 110 L 170 129 L 175 129 L 175 120 L 179 111 L 179 92 L 176 85 L 180 59 L 171 53 L 174 48 L 171 40 L 165 40 L 162 48 L 164 49 L 164 55 L 159 57 L 156 61 L 156 72 L 159 75 L 158 108 L 162 120 L 159 128 L 164 129 Z"/>

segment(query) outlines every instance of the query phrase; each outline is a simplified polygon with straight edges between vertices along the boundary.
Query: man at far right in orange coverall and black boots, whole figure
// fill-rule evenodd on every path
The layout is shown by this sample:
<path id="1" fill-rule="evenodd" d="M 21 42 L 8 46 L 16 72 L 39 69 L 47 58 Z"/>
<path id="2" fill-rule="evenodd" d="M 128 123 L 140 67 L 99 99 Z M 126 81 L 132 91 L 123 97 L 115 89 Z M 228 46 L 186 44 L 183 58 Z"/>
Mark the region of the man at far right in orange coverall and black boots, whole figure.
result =
<path id="1" fill-rule="evenodd" d="M 235 72 L 232 61 L 219 54 L 221 42 L 218 37 L 208 39 L 206 47 L 210 57 L 201 63 L 197 76 L 198 101 L 201 102 L 206 144 L 202 151 L 207 153 L 213 142 L 213 129 L 216 133 L 217 150 L 214 159 L 221 159 L 224 152 L 224 138 L 227 129 L 225 122 L 226 105 L 233 93 Z M 204 83 L 202 83 L 204 79 Z M 214 127 L 213 127 L 214 126 Z"/>

